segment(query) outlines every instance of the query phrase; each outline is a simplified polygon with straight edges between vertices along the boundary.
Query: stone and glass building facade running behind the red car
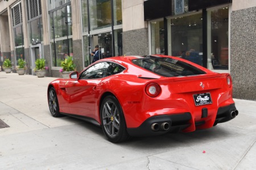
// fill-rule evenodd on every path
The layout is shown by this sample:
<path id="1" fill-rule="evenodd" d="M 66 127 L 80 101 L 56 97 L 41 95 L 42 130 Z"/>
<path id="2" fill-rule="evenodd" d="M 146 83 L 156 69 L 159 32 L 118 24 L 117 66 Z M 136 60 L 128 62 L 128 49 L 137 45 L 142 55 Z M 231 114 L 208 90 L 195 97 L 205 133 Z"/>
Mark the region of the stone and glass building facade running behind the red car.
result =
<path id="1" fill-rule="evenodd" d="M 1 61 L 19 58 L 48 76 L 73 56 L 77 71 L 100 58 L 167 54 L 230 73 L 234 97 L 256 100 L 254 0 L 0 0 Z"/>

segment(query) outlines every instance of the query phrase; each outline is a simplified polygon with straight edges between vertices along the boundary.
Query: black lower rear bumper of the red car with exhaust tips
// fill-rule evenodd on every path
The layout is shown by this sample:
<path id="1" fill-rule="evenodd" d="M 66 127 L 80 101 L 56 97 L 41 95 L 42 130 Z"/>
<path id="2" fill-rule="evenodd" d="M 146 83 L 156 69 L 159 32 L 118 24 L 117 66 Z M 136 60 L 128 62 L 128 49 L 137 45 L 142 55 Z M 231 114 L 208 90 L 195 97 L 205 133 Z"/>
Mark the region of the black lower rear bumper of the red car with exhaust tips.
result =
<path id="1" fill-rule="evenodd" d="M 236 111 L 236 112 L 235 112 Z M 232 114 L 234 112 L 234 114 Z M 210 126 L 217 125 L 218 123 L 226 122 L 232 120 L 236 117 L 238 111 L 234 104 L 230 104 L 226 107 L 218 108 L 218 112 L 216 114 L 216 119 L 214 124 Z M 192 123 L 191 123 L 192 122 Z M 179 113 L 179 114 L 165 114 L 160 116 L 152 116 L 144 121 L 141 126 L 138 128 L 127 128 L 127 132 L 131 136 L 150 136 L 150 135 L 161 135 L 168 132 L 179 132 L 179 131 L 193 131 L 188 130 L 188 127 L 204 127 L 209 122 L 201 121 L 199 122 L 192 121 L 191 113 Z M 207 125 L 207 127 L 209 127 Z M 205 128 L 203 128 L 205 129 Z"/>

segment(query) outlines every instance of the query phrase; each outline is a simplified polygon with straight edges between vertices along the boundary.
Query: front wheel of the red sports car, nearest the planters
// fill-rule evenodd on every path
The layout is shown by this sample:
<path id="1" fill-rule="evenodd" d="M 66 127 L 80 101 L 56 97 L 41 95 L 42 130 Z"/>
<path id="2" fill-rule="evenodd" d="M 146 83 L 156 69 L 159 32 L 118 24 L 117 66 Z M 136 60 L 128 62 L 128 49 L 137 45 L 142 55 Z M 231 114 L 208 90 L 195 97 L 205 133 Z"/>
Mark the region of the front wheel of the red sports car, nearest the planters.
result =
<path id="1" fill-rule="evenodd" d="M 62 116 L 62 114 L 60 114 L 59 102 L 57 99 L 56 91 L 53 87 L 51 87 L 48 91 L 48 105 L 53 117 Z"/>

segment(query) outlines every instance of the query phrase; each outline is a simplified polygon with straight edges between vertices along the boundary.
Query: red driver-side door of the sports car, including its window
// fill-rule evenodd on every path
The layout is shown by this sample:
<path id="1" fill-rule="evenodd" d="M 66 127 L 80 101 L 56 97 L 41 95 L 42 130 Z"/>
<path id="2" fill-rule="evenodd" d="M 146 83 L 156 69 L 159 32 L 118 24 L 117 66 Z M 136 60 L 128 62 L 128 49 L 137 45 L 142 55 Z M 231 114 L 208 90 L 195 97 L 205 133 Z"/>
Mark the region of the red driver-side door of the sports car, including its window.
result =
<path id="1" fill-rule="evenodd" d="M 72 114 L 95 117 L 98 101 L 98 84 L 106 76 L 108 62 L 96 63 L 65 84 L 69 110 Z"/>

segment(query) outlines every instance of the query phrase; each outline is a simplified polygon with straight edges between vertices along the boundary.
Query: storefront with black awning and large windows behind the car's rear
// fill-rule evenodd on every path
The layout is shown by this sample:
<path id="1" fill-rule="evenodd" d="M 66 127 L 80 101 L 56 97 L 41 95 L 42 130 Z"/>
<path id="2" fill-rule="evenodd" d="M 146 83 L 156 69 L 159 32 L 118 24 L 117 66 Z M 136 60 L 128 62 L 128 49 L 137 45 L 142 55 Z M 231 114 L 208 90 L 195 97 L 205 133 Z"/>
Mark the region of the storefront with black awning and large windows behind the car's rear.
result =
<path id="1" fill-rule="evenodd" d="M 210 70 L 229 70 L 230 1 L 157 2 L 144 2 L 151 54 L 185 58 Z M 154 6 L 159 10 L 152 12 Z"/>

